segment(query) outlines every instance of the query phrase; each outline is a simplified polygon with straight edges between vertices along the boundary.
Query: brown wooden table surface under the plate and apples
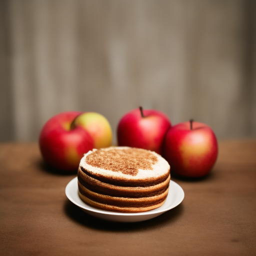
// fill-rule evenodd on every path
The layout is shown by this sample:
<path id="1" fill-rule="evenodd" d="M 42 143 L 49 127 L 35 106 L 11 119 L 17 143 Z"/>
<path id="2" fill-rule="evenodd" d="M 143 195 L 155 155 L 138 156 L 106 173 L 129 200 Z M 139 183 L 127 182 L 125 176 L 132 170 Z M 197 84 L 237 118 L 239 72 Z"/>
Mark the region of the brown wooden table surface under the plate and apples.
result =
<path id="1" fill-rule="evenodd" d="M 255 139 L 219 141 L 210 174 L 172 178 L 184 200 L 146 221 L 86 214 L 65 196 L 75 176 L 47 167 L 37 143 L 0 144 L 1 255 L 256 254 Z"/>

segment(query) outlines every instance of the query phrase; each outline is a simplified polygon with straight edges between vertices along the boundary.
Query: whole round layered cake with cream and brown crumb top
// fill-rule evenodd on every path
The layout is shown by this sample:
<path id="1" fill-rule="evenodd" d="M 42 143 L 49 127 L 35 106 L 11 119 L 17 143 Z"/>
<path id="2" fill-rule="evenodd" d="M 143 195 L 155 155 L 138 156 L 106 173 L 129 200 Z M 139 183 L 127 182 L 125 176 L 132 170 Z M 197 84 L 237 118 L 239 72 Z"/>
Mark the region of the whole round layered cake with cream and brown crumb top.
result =
<path id="1" fill-rule="evenodd" d="M 164 203 L 170 166 L 153 151 L 108 147 L 84 154 L 77 178 L 78 194 L 87 204 L 109 211 L 142 212 Z"/>

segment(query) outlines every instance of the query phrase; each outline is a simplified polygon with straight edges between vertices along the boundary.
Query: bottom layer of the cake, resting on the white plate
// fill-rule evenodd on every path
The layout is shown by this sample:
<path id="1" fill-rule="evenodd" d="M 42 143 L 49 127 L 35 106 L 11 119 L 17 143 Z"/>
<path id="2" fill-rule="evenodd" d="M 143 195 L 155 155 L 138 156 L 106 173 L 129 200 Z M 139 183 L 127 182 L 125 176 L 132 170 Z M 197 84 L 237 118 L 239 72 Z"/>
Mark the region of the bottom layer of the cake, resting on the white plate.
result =
<path id="1" fill-rule="evenodd" d="M 79 191 L 78 191 L 78 194 L 84 202 L 91 205 L 92 207 L 107 210 L 107 211 L 125 212 L 125 213 L 127 213 L 127 212 L 135 213 L 135 212 L 143 212 L 143 211 L 153 210 L 155 208 L 160 207 L 165 201 L 165 200 L 163 200 L 162 202 L 159 202 L 158 204 L 154 204 L 154 205 L 146 206 L 146 207 L 141 207 L 141 206 L 140 207 L 119 207 L 119 206 L 115 206 L 115 205 L 109 205 L 109 204 L 93 201 L 93 200 L 87 198 L 86 196 L 82 195 Z"/>

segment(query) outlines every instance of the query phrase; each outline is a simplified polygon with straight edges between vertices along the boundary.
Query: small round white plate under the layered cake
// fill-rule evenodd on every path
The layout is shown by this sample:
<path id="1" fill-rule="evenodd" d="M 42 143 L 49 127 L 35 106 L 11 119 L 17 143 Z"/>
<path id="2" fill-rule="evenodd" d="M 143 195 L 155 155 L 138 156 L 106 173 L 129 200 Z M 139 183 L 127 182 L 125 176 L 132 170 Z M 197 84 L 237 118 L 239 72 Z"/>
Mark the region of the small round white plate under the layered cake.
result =
<path id="1" fill-rule="evenodd" d="M 118 221 L 118 222 L 136 222 L 136 221 L 142 221 L 142 220 L 154 218 L 162 214 L 163 212 L 174 208 L 184 198 L 183 189 L 177 183 L 170 180 L 169 192 L 162 206 L 153 210 L 145 211 L 145 212 L 121 213 L 121 212 L 113 212 L 113 211 L 97 209 L 83 202 L 78 195 L 77 177 L 69 181 L 69 183 L 66 185 L 65 193 L 67 198 L 72 203 L 80 207 L 86 213 L 98 218 L 102 218 L 110 221 Z"/>

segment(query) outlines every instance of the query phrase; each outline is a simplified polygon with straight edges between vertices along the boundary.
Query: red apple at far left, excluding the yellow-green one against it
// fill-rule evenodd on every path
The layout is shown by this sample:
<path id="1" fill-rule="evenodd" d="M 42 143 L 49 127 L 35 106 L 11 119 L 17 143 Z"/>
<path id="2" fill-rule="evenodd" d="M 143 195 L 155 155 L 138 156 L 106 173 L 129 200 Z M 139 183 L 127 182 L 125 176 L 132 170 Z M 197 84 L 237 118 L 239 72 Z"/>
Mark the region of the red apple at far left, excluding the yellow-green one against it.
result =
<path id="1" fill-rule="evenodd" d="M 64 171 L 77 169 L 83 153 L 93 148 L 93 139 L 84 128 L 70 128 L 74 118 L 81 113 L 59 113 L 51 117 L 41 129 L 40 151 L 44 161 L 54 168 Z"/>

